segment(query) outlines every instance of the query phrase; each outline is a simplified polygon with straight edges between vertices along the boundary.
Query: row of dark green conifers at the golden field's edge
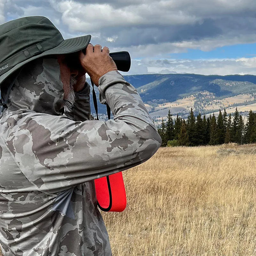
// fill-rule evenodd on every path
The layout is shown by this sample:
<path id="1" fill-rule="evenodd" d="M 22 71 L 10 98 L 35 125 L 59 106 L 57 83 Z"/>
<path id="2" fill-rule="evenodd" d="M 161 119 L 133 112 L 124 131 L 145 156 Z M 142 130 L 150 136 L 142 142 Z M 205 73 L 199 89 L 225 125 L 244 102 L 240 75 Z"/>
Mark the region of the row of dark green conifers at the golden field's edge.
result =
<path id="1" fill-rule="evenodd" d="M 256 113 L 250 110 L 244 124 L 237 108 L 233 115 L 227 115 L 224 109 L 223 113 L 220 110 L 218 117 L 213 114 L 207 118 L 201 113 L 195 116 L 191 108 L 186 121 L 179 115 L 173 120 L 169 110 L 167 122 L 162 118 L 157 130 L 162 138 L 162 147 L 256 143 Z"/>

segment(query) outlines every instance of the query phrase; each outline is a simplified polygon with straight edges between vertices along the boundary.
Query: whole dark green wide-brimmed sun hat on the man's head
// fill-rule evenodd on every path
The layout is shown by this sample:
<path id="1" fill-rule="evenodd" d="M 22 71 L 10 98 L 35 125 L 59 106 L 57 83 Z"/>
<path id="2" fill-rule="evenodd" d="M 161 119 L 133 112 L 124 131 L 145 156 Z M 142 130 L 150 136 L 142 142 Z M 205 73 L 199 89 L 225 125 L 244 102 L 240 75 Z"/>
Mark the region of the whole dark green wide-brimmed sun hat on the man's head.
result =
<path id="1" fill-rule="evenodd" d="M 24 17 L 0 25 L 0 85 L 28 62 L 55 54 L 78 52 L 91 35 L 64 40 L 52 22 L 42 16 Z"/>

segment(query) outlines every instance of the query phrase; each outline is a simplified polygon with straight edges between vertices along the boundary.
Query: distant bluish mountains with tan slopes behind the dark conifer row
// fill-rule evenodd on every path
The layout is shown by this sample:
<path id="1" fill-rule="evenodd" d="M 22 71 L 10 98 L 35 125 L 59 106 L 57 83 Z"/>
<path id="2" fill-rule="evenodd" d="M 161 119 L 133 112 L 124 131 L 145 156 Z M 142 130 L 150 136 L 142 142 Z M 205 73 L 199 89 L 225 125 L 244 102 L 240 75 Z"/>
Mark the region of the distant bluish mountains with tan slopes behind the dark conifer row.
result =
<path id="1" fill-rule="evenodd" d="M 186 117 L 191 107 L 195 112 L 211 113 L 256 103 L 256 76 L 252 75 L 148 74 L 124 78 L 138 90 L 155 120 L 165 117 L 169 109 L 173 115 Z M 99 94 L 97 88 L 95 91 Z M 106 106 L 98 103 L 98 108 L 99 113 L 106 114 Z M 91 109 L 95 112 L 92 100 Z"/>

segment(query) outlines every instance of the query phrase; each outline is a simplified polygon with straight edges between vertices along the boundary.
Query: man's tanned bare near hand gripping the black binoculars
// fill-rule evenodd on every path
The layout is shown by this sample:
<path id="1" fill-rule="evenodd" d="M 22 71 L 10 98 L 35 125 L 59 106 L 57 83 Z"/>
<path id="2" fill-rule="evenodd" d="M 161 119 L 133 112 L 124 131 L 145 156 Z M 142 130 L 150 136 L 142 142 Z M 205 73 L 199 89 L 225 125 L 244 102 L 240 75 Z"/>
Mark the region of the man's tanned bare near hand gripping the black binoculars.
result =
<path id="1" fill-rule="evenodd" d="M 116 63 L 109 56 L 108 47 L 104 46 L 101 52 L 101 45 L 88 44 L 86 53 L 80 52 L 79 55 L 81 65 L 92 78 L 92 82 L 99 86 L 99 79 L 109 71 L 117 70 Z"/>

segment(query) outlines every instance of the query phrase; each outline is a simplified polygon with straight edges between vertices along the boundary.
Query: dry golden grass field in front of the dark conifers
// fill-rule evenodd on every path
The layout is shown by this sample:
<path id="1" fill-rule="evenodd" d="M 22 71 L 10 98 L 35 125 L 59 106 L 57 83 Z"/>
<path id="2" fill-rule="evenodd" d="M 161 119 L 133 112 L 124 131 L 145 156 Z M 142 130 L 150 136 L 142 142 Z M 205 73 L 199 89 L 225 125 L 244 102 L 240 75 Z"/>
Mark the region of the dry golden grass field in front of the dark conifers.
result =
<path id="1" fill-rule="evenodd" d="M 104 213 L 113 256 L 256 255 L 256 145 L 160 148 Z"/>

